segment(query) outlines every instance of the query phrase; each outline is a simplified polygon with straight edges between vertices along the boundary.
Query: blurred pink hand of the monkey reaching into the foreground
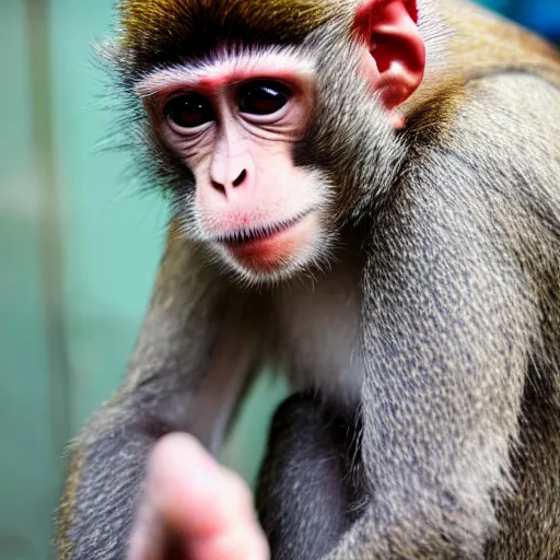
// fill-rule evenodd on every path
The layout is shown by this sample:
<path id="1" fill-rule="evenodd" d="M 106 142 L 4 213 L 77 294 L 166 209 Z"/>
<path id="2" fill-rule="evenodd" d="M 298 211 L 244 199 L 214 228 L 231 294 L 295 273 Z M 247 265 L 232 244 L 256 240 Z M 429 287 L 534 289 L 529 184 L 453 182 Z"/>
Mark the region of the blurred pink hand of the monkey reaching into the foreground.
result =
<path id="1" fill-rule="evenodd" d="M 248 488 L 191 436 L 155 446 L 129 560 L 267 560 Z"/>

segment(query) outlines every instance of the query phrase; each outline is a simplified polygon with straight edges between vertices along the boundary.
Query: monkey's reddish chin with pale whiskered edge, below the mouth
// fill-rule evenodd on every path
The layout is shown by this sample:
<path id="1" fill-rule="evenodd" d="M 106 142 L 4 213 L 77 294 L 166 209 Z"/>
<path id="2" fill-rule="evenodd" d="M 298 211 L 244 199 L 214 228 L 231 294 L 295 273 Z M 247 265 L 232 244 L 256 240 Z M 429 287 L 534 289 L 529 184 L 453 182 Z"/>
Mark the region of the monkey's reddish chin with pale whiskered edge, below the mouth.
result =
<path id="1" fill-rule="evenodd" d="M 289 278 L 316 253 L 318 217 L 311 212 L 280 232 L 241 243 L 224 243 L 228 260 L 245 280 L 257 282 Z"/>

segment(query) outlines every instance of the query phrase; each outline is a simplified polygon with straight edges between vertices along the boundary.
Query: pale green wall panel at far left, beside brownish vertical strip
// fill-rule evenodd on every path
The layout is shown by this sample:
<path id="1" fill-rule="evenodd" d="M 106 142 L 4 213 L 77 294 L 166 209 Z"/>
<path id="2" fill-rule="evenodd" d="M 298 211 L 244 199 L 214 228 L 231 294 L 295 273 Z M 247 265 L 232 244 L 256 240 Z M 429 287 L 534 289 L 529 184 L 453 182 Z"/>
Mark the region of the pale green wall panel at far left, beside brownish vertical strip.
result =
<path id="1" fill-rule="evenodd" d="M 51 409 L 34 151 L 30 50 L 22 2 L 0 3 L 0 558 L 46 558 L 60 460 Z M 28 527 L 32 527 L 31 529 Z"/>

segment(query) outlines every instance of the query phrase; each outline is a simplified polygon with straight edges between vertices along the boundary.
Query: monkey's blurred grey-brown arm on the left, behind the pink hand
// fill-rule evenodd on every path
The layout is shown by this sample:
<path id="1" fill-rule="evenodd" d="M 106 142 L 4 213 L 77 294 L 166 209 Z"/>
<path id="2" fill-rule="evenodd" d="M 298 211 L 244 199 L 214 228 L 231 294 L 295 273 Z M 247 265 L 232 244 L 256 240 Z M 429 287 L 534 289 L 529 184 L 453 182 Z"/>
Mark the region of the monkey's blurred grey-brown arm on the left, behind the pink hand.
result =
<path id="1" fill-rule="evenodd" d="M 172 232 L 126 381 L 73 444 L 57 538 L 65 560 L 125 558 L 160 436 L 187 431 L 220 445 L 250 370 L 249 328 L 235 324 L 243 298 L 194 257 Z"/>

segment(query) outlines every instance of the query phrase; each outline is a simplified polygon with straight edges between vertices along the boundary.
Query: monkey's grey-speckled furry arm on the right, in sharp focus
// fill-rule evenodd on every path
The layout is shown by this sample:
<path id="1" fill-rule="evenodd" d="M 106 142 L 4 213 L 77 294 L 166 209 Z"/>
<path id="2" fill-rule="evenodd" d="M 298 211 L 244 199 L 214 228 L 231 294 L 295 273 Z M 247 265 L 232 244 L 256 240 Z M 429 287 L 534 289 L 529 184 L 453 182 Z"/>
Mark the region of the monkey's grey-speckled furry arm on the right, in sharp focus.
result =
<path id="1" fill-rule="evenodd" d="M 500 222 L 515 208 L 472 162 L 433 156 L 373 228 L 362 397 L 371 503 L 329 560 L 481 558 L 511 482 L 539 328 L 513 250 L 522 219 Z"/>

